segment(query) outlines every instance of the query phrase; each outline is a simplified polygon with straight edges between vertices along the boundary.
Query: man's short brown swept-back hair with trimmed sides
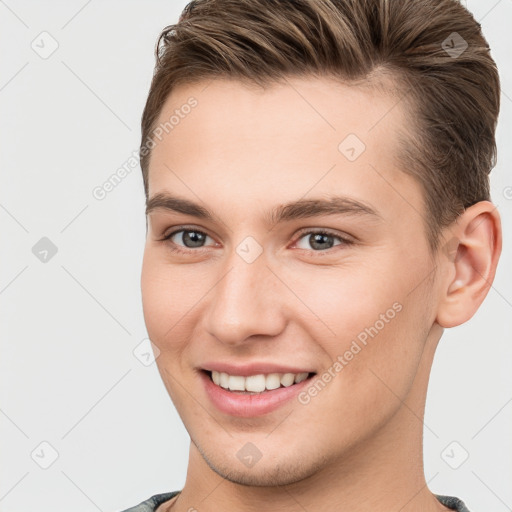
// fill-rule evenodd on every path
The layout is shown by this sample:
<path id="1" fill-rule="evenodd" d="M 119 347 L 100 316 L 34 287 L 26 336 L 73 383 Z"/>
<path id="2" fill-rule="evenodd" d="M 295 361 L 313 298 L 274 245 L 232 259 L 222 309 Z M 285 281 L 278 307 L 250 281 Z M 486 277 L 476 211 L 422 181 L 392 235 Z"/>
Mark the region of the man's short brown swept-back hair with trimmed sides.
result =
<path id="1" fill-rule="evenodd" d="M 196 0 L 162 31 L 155 57 L 142 115 L 146 198 L 148 141 L 176 85 L 388 76 L 411 120 L 397 161 L 424 190 L 431 248 L 442 227 L 490 199 L 500 81 L 480 24 L 458 0 Z"/>

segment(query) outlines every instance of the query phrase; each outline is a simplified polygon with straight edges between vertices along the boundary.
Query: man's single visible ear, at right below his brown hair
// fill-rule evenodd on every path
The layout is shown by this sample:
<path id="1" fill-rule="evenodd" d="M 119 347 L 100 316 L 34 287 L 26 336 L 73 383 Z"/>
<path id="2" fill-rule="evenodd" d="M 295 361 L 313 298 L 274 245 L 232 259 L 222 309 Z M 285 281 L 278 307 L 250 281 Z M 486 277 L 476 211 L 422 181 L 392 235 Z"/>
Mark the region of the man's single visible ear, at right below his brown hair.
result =
<path id="1" fill-rule="evenodd" d="M 480 201 L 446 228 L 439 249 L 440 297 L 436 321 L 468 321 L 491 288 L 501 254 L 501 221 L 495 205 Z"/>

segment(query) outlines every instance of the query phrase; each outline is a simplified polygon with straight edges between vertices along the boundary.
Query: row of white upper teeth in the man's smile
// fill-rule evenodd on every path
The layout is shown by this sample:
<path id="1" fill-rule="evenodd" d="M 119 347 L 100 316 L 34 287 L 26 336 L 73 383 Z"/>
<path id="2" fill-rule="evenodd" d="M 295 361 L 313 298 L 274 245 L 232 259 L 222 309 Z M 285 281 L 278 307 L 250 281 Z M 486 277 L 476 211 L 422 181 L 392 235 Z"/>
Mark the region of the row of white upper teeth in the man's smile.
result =
<path id="1" fill-rule="evenodd" d="M 249 391 L 261 393 L 265 390 L 277 389 L 281 386 L 289 387 L 307 379 L 308 373 L 269 373 L 242 377 L 228 375 L 225 372 L 212 371 L 212 380 L 217 386 L 230 391 Z"/>

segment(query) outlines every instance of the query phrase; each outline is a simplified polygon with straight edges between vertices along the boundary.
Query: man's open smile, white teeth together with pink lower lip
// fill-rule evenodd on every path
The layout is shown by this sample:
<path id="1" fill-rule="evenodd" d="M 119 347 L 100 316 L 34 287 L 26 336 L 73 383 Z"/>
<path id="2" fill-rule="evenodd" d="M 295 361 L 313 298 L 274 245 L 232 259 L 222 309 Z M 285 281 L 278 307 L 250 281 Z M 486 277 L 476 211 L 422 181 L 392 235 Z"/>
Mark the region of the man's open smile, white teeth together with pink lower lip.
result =
<path id="1" fill-rule="evenodd" d="M 199 372 L 207 397 L 220 412 L 249 418 L 269 414 L 289 403 L 308 386 L 315 372 L 230 375 Z"/>

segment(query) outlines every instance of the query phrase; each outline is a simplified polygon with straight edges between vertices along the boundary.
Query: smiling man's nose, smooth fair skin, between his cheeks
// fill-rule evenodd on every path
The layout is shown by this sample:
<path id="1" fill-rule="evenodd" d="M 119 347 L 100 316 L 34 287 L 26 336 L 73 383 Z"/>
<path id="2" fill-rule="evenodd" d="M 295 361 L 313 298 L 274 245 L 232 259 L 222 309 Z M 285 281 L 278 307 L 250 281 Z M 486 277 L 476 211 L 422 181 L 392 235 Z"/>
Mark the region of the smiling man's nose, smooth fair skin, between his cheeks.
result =
<path id="1" fill-rule="evenodd" d="M 277 336 L 284 330 L 283 290 L 264 254 L 247 263 L 233 251 L 222 276 L 209 294 L 203 316 L 212 336 L 222 343 L 240 345 L 251 337 Z"/>

